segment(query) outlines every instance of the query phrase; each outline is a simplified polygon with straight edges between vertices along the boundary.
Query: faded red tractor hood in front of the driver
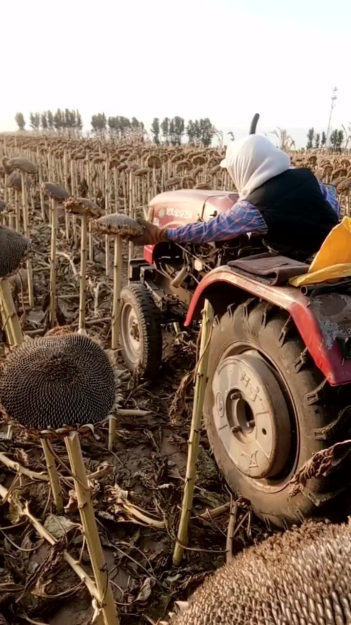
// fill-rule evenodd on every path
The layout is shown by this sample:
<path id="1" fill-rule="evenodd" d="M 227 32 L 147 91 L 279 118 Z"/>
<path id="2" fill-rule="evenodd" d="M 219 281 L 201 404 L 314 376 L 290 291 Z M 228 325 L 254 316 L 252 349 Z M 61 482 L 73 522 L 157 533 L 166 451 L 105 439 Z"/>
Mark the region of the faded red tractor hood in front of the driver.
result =
<path id="1" fill-rule="evenodd" d="M 238 199 L 232 191 L 180 189 L 165 191 L 149 204 L 149 221 L 160 227 L 177 227 L 195 221 L 208 221 L 228 211 Z"/>

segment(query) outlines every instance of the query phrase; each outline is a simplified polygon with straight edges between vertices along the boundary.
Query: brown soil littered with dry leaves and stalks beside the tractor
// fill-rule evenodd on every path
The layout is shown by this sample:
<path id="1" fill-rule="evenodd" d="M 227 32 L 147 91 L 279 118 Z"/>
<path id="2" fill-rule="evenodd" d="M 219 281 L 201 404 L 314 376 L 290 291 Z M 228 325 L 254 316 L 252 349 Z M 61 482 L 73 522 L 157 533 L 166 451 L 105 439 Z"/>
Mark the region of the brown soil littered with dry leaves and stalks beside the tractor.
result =
<path id="1" fill-rule="evenodd" d="M 38 225 L 32 228 L 36 294 L 33 311 L 27 311 L 24 294 L 23 312 L 21 281 L 16 280 L 19 314 L 28 336 L 47 330 L 50 229 L 47 224 L 39 224 L 39 218 L 37 221 Z M 62 216 L 60 224 L 62 228 Z M 127 248 L 124 254 L 126 260 Z M 108 347 L 112 281 L 104 277 L 103 242 L 95 241 L 94 256 L 94 262 L 88 262 L 87 267 L 87 330 Z M 78 317 L 79 249 L 59 243 L 58 266 L 58 321 L 60 325 L 74 327 Z M 24 271 L 21 276 L 25 280 Z M 175 419 L 170 418 L 169 410 L 182 377 L 194 367 L 194 354 L 187 342 L 174 344 L 170 332 L 165 332 L 165 337 L 164 361 L 155 381 L 131 379 L 122 359 L 117 362 L 121 371 L 120 407 L 147 410 L 149 414 L 117 417 L 114 452 L 107 451 L 107 424 L 97 427 L 96 437 L 81 439 L 88 471 L 101 466 L 105 471 L 91 480 L 91 487 L 122 625 L 156 625 L 160 619 L 167 618 L 174 601 L 186 599 L 205 576 L 225 561 L 229 509 L 214 519 L 204 513 L 206 509 L 230 502 L 230 492 L 217 472 L 207 437 L 202 432 L 189 547 L 180 566 L 172 565 L 184 486 L 191 392 L 185 397 L 184 411 L 176 414 Z M 4 343 L 0 344 L 0 350 L 2 357 L 6 356 Z M 12 439 L 7 439 L 6 434 L 4 425 L 0 452 L 32 471 L 46 470 L 39 442 L 19 432 L 13 432 Z M 54 450 L 67 464 L 64 444 L 54 444 Z M 20 476 L 0 464 L 0 483 L 7 488 L 12 484 L 12 494 L 16 492 L 22 502 L 29 502 L 31 513 L 59 537 L 56 546 L 50 547 L 29 522 L 18 518 L 11 504 L 2 502 L 0 612 L 9 625 L 92 622 L 91 597 L 62 559 L 62 551 L 67 549 L 91 574 L 72 481 L 64 469 L 61 475 L 66 509 L 65 517 L 57 520 L 46 482 Z M 137 508 L 131 508 L 130 504 Z M 244 501 L 238 504 L 234 551 L 267 535 L 265 528 L 252 517 L 250 507 Z"/>

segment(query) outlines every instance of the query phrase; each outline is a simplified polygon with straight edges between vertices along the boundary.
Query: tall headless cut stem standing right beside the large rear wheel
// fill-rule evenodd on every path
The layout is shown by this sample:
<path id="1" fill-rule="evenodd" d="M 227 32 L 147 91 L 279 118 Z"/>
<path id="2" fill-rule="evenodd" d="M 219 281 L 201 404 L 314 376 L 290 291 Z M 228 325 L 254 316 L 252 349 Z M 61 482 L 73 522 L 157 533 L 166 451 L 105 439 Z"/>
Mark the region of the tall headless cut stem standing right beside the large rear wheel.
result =
<path id="1" fill-rule="evenodd" d="M 177 539 L 174 547 L 173 564 L 179 566 L 183 557 L 184 545 L 187 544 L 189 519 L 192 511 L 192 501 L 194 498 L 194 485 L 196 476 L 197 456 L 199 454 L 199 441 L 201 431 L 202 406 L 204 404 L 204 394 L 207 383 L 207 366 L 209 363 L 209 341 L 212 332 L 212 321 L 214 309 L 208 299 L 205 299 L 204 310 L 202 311 L 202 328 L 199 361 L 196 367 L 194 403 L 192 406 L 192 419 L 190 426 L 187 472 L 182 500 L 182 511 L 178 528 Z"/>

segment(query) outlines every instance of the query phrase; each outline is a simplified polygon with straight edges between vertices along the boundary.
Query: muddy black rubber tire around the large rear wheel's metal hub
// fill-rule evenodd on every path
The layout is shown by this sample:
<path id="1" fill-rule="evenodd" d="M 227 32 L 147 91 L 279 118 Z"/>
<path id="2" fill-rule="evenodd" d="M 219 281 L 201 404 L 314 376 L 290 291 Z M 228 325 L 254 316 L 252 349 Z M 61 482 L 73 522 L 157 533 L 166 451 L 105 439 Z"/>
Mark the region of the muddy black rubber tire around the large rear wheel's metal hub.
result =
<path id="1" fill-rule="evenodd" d="M 245 350 L 259 352 L 275 371 L 289 406 L 292 437 L 284 469 L 274 479 L 252 479 L 241 472 L 229 456 L 215 426 L 214 374 L 225 357 Z M 344 389 L 345 390 L 345 389 Z M 343 399 L 344 397 L 344 399 Z M 274 402 L 274 397 L 272 398 Z M 288 483 L 315 452 L 349 436 L 350 411 L 347 394 L 324 381 L 322 372 L 310 359 L 304 342 L 285 311 L 267 302 L 250 299 L 229 307 L 216 319 L 209 354 L 209 382 L 204 402 L 207 434 L 217 464 L 234 492 L 249 499 L 255 513 L 267 522 L 286 527 L 305 517 L 320 514 L 345 485 L 345 472 L 309 479 L 304 494 L 290 498 Z M 349 481 L 349 477 L 346 478 Z M 344 481 L 344 484 L 342 483 Z"/>

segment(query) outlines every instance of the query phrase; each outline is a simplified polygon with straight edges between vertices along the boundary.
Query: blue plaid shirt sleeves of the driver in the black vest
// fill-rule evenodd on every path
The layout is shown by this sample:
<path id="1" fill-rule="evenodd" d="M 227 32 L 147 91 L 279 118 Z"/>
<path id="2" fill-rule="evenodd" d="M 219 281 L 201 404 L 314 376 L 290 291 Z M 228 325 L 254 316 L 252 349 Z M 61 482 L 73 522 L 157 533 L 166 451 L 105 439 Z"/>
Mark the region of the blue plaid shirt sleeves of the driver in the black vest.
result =
<path id="1" fill-rule="evenodd" d="M 337 191 L 329 184 L 319 181 L 320 190 L 324 198 L 340 216 L 340 204 L 337 201 Z M 257 209 L 245 199 L 238 200 L 229 211 L 221 212 L 210 221 L 198 221 L 179 228 L 167 231 L 169 241 L 177 243 L 207 243 L 209 241 L 227 241 L 241 234 L 267 234 L 267 224 Z"/>

